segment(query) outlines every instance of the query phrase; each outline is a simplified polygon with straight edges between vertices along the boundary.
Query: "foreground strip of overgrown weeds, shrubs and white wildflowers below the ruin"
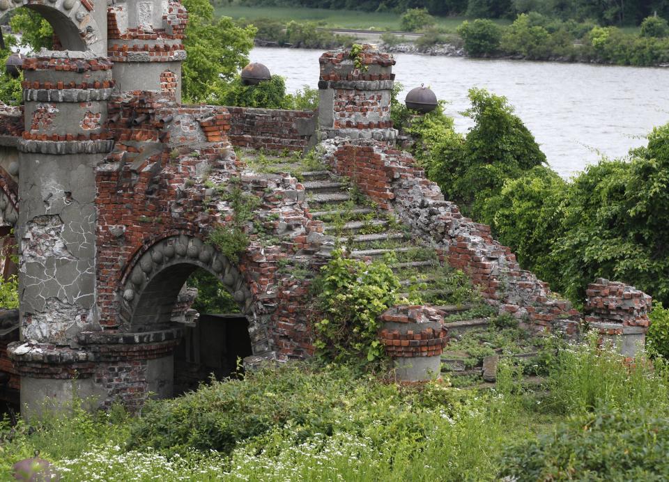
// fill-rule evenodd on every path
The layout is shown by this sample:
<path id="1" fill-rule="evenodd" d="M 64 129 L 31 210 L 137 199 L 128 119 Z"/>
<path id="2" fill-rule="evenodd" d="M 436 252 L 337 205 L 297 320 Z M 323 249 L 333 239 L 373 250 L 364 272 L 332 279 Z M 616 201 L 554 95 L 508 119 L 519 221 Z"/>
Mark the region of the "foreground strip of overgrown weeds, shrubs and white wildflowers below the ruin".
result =
<path id="1" fill-rule="evenodd" d="M 552 357 L 536 391 L 505 362 L 495 390 L 293 362 L 135 416 L 76 404 L 0 425 L 0 477 L 39 448 L 71 481 L 666 479 L 666 367 L 592 343 Z"/>

